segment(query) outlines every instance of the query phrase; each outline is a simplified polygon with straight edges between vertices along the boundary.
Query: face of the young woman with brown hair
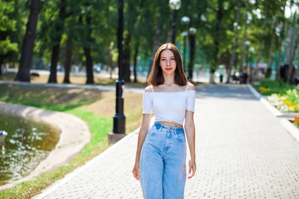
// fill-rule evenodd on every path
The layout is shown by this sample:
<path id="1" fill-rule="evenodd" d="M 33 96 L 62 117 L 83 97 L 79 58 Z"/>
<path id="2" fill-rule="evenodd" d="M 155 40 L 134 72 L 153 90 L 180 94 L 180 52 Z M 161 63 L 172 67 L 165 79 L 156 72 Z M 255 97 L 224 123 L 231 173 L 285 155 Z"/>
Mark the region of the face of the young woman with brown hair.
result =
<path id="1" fill-rule="evenodd" d="M 174 54 L 171 50 L 163 50 L 160 54 L 159 66 L 166 74 L 171 74 L 175 71 L 176 62 Z"/>

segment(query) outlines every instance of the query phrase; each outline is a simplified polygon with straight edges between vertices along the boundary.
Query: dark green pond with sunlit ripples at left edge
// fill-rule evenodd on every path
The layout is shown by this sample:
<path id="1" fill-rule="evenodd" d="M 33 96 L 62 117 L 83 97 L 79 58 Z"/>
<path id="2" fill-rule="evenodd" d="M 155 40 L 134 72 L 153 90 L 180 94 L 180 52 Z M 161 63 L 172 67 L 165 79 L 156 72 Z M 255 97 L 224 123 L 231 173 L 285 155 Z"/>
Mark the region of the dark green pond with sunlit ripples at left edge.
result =
<path id="1" fill-rule="evenodd" d="M 8 134 L 0 143 L 0 186 L 30 174 L 60 137 L 60 129 L 5 114 L 0 114 L 0 130 Z"/>

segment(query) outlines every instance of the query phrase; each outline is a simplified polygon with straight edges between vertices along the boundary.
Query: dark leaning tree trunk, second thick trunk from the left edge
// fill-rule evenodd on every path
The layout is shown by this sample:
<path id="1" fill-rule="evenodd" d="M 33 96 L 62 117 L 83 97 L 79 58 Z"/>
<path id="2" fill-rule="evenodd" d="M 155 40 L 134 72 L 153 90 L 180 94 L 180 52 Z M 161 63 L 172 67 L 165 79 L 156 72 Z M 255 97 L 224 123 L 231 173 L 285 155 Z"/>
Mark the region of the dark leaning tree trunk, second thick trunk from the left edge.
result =
<path id="1" fill-rule="evenodd" d="M 62 31 L 64 28 L 64 20 L 67 16 L 68 15 L 66 13 L 66 0 L 61 0 L 59 18 L 55 23 L 56 37 L 53 39 L 53 43 L 55 45 L 52 47 L 51 68 L 48 83 L 57 83 L 57 63 L 59 59 L 60 41 Z"/>

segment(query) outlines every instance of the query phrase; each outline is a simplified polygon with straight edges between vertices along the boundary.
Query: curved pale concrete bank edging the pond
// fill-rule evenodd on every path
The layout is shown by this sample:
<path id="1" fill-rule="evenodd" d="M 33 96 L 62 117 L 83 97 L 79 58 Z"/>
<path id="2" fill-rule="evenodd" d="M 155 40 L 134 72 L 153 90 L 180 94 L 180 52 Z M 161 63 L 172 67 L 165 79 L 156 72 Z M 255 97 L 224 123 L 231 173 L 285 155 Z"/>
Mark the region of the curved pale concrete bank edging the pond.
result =
<path id="1" fill-rule="evenodd" d="M 91 139 L 87 123 L 68 113 L 44 110 L 26 105 L 16 105 L 2 101 L 0 101 L 0 111 L 5 114 L 21 116 L 37 122 L 45 122 L 61 129 L 60 139 L 55 149 L 49 153 L 46 159 L 40 162 L 28 176 L 10 184 L 0 186 L 0 191 L 12 188 L 19 183 L 30 181 L 46 172 L 65 165 L 75 157 Z"/>

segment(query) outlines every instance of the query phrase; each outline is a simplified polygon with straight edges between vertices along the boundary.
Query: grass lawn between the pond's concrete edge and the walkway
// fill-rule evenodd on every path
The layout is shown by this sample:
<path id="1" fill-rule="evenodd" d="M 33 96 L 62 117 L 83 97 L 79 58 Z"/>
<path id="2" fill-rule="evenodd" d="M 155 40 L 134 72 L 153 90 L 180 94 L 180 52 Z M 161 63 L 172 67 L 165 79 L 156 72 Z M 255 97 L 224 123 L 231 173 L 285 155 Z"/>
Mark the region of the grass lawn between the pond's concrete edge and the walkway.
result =
<path id="1" fill-rule="evenodd" d="M 92 134 L 90 143 L 69 164 L 1 192 L 0 199 L 30 199 L 109 147 L 107 134 L 113 130 L 115 92 L 12 85 L 0 85 L 0 91 L 1 101 L 76 115 L 88 123 Z M 143 95 L 125 92 L 124 105 L 129 133 L 141 125 Z"/>

